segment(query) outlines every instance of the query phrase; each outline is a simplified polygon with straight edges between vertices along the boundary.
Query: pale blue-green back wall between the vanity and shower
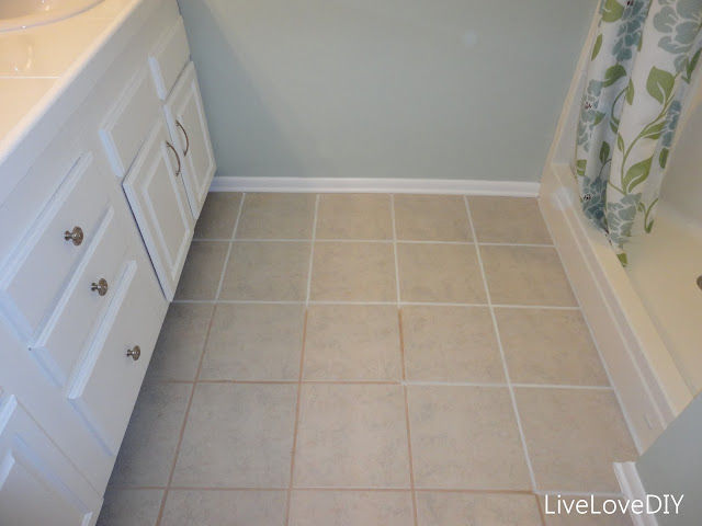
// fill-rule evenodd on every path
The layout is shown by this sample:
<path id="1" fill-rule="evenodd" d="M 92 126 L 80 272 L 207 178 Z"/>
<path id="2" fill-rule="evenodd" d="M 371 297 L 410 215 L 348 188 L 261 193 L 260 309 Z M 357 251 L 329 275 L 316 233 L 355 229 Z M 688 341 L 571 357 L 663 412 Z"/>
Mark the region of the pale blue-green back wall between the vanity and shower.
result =
<path id="1" fill-rule="evenodd" d="M 537 181 L 597 0 L 180 0 L 217 175 Z"/>

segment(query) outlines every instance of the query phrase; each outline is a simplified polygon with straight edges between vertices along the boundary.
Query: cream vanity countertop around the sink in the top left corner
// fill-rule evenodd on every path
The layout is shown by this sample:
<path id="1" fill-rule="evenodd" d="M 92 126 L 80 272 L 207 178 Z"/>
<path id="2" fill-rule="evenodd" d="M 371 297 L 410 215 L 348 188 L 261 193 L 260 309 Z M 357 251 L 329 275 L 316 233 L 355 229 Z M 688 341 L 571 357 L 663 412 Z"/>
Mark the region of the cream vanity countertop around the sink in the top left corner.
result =
<path id="1" fill-rule="evenodd" d="M 104 0 L 60 22 L 0 33 L 0 163 L 145 0 Z"/>

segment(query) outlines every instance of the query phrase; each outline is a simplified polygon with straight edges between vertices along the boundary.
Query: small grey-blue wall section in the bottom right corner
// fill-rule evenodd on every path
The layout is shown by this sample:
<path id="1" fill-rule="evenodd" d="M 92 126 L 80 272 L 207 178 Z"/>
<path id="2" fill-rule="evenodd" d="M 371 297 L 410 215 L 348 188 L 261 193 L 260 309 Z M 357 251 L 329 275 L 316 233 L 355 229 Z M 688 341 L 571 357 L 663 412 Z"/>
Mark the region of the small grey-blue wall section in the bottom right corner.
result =
<path id="1" fill-rule="evenodd" d="M 659 513 L 659 526 L 697 526 L 702 517 L 702 395 L 672 421 L 636 461 L 646 493 L 684 494 L 680 515 Z M 655 503 L 654 503 L 655 504 Z M 671 504 L 672 505 L 672 504 Z M 672 510 L 672 508 L 670 508 Z"/>

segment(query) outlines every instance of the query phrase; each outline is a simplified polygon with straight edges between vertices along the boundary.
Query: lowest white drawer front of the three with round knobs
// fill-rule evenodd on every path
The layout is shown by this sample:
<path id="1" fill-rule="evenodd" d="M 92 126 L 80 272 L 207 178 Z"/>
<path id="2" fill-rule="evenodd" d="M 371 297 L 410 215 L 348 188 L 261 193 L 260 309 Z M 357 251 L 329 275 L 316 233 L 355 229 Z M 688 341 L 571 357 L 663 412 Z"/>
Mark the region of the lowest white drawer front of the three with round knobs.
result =
<path id="1" fill-rule="evenodd" d="M 129 261 L 68 393 L 110 455 L 120 449 L 163 319 L 163 296 L 141 261 Z M 137 345 L 135 361 L 127 352 Z"/>

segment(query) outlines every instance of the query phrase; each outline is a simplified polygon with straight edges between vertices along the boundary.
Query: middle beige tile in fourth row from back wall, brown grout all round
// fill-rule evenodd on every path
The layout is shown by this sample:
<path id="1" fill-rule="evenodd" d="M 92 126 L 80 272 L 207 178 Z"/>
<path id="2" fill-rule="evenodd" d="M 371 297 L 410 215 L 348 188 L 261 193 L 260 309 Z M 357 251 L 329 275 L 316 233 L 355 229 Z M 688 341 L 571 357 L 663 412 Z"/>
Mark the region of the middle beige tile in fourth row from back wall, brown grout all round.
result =
<path id="1" fill-rule="evenodd" d="M 295 487 L 408 488 L 403 387 L 304 385 Z"/>

